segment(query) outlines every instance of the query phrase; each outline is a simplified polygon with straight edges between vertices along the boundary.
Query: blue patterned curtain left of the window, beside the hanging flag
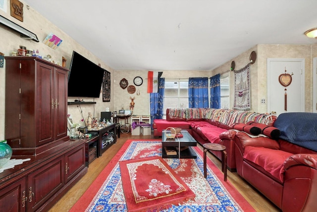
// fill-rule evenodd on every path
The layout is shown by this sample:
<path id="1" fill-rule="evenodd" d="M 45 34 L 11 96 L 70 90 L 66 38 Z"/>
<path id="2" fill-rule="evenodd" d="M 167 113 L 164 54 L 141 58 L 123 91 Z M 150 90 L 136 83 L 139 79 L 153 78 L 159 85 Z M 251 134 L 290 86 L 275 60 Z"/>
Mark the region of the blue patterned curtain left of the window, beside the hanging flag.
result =
<path id="1" fill-rule="evenodd" d="M 151 126 L 154 119 L 163 118 L 165 78 L 159 79 L 159 93 L 150 93 Z"/>

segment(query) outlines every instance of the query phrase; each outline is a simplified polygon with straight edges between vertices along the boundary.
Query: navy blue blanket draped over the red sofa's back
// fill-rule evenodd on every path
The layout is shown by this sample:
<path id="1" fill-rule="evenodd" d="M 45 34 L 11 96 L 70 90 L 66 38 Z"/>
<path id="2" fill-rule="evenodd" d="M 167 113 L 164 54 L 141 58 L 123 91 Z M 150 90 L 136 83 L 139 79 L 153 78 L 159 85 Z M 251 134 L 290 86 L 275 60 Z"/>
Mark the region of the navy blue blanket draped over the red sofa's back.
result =
<path id="1" fill-rule="evenodd" d="M 281 131 L 280 138 L 317 151 L 317 113 L 282 113 L 275 120 L 274 127 Z"/>

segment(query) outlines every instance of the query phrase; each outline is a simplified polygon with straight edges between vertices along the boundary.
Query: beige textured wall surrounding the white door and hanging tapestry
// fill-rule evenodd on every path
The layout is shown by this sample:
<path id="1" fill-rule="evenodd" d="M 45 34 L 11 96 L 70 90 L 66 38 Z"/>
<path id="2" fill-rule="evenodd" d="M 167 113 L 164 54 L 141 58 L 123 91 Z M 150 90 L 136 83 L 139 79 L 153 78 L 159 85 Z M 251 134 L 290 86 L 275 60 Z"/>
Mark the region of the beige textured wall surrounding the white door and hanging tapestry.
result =
<path id="1" fill-rule="evenodd" d="M 305 59 L 305 111 L 312 111 L 312 58 L 317 56 L 317 45 L 257 45 L 250 50 L 232 58 L 236 63 L 235 70 L 243 68 L 250 62 L 250 53 L 257 53 L 257 60 L 251 64 L 251 110 L 267 112 L 267 58 L 304 58 Z M 231 61 L 213 70 L 213 75 L 230 69 Z M 230 71 L 230 107 L 233 107 L 234 72 Z"/>

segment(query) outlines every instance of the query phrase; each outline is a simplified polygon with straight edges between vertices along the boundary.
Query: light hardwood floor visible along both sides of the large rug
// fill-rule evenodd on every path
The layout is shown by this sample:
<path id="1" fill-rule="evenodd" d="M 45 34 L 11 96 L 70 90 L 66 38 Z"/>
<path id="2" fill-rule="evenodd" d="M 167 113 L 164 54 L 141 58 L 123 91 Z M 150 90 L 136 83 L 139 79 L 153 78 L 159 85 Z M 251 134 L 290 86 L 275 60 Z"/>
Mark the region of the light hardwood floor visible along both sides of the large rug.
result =
<path id="1" fill-rule="evenodd" d="M 99 173 L 106 167 L 108 162 L 118 152 L 128 139 L 159 139 L 154 138 L 153 135 L 149 136 L 132 136 L 131 133 L 120 134 L 117 142 L 112 145 L 106 152 L 99 158 L 95 159 L 89 164 L 88 173 L 80 179 L 51 209 L 50 212 L 68 212 L 71 207 L 78 201 L 84 194 L 88 187 L 97 178 Z M 203 147 L 197 144 L 202 150 Z M 212 162 L 221 170 L 221 162 L 208 153 L 208 157 Z M 227 180 L 242 194 L 242 196 L 250 203 L 250 205 L 257 212 L 280 212 L 280 210 L 267 200 L 260 192 L 253 188 L 248 182 L 242 179 L 236 172 L 227 171 Z"/>

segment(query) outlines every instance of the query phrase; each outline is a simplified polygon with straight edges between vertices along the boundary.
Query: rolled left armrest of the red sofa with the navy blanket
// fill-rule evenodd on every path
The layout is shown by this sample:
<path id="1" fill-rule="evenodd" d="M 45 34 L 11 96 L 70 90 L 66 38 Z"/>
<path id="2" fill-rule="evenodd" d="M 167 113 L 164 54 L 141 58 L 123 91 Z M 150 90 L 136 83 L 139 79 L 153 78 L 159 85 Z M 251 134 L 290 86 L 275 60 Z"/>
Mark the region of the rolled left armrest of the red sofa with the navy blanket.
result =
<path id="1" fill-rule="evenodd" d="M 251 138 L 248 134 L 244 132 L 236 133 L 236 141 L 241 143 L 241 147 L 244 149 L 246 146 L 252 147 L 265 147 L 273 150 L 279 149 L 279 144 L 267 137 L 256 137 Z"/>

